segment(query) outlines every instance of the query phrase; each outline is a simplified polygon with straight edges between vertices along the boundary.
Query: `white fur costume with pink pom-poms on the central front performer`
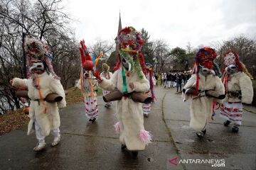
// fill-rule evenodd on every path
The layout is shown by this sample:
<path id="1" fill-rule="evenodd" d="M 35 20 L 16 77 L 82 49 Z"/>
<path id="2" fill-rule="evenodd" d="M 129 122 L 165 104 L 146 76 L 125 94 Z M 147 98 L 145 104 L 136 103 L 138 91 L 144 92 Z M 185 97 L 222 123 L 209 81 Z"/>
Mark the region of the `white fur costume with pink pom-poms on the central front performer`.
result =
<path id="1" fill-rule="evenodd" d="M 127 74 L 127 71 L 124 71 Z M 143 74 L 143 73 L 142 73 Z M 137 72 L 130 73 L 127 80 L 127 92 L 149 91 L 149 81 L 144 77 L 139 79 Z M 134 84 L 134 89 L 129 87 L 129 83 Z M 102 78 L 99 84 L 102 89 L 114 91 L 116 88 L 123 91 L 122 65 L 114 72 L 110 80 Z M 119 140 L 122 145 L 126 145 L 129 150 L 144 150 L 145 143 L 140 140 L 140 132 L 144 130 L 144 118 L 142 113 L 142 103 L 132 101 L 131 98 L 122 97 L 117 101 L 117 119 L 119 120 Z"/>

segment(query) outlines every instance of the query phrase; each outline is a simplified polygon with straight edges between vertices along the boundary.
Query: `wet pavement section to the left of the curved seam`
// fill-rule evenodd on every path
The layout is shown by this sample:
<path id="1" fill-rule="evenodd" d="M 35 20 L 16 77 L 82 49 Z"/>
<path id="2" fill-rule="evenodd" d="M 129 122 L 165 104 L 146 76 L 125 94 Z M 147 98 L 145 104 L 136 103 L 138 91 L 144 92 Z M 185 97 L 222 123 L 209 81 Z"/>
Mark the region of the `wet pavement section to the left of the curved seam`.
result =
<path id="1" fill-rule="evenodd" d="M 61 142 L 51 147 L 52 136 L 46 137 L 46 148 L 33 152 L 35 134 L 26 135 L 14 130 L 0 137 L 0 169 L 166 169 L 168 155 L 176 154 L 169 130 L 164 123 L 161 98 L 157 95 L 149 118 L 144 118 L 145 129 L 151 131 L 153 142 L 139 152 L 137 159 L 131 152 L 121 151 L 119 137 L 114 132 L 114 106 L 105 108 L 98 96 L 100 116 L 95 123 L 88 121 L 82 103 L 60 111 Z"/>

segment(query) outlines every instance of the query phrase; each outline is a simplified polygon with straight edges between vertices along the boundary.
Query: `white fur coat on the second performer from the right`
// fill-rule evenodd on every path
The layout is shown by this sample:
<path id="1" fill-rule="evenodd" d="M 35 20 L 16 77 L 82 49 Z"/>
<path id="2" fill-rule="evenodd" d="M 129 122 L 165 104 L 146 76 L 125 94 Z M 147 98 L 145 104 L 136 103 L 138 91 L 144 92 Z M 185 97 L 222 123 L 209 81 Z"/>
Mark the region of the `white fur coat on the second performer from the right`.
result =
<path id="1" fill-rule="evenodd" d="M 196 84 L 196 74 L 193 74 L 188 82 L 184 86 L 184 89 L 189 89 L 191 86 Z M 199 86 L 198 90 L 214 90 L 219 94 L 225 94 L 224 86 L 219 77 L 213 76 L 213 74 L 204 77 L 202 74 L 199 73 Z M 188 99 L 188 96 L 183 94 L 185 99 Z M 210 98 L 210 97 L 200 97 L 195 98 L 191 101 L 191 121 L 190 126 L 197 132 L 206 129 L 206 125 L 211 118 L 213 113 L 213 101 L 217 99 Z"/>

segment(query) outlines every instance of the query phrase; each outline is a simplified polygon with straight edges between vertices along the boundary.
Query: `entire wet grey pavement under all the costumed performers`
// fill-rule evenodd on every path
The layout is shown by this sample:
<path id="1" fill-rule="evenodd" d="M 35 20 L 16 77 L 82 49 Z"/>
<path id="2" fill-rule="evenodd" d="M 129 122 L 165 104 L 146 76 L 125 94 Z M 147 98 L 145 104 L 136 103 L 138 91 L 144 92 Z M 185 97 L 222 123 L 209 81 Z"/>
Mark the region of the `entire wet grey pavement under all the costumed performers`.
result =
<path id="1" fill-rule="evenodd" d="M 157 101 L 144 118 L 153 142 L 137 159 L 121 151 L 113 127 L 114 106 L 105 108 L 98 96 L 100 116 L 95 123 L 86 118 L 82 103 L 60 111 L 61 142 L 56 147 L 50 146 L 53 137 L 48 136 L 46 148 L 33 152 L 36 136 L 27 136 L 26 127 L 1 136 L 0 169 L 256 169 L 256 114 L 245 112 L 240 132 L 234 134 L 217 113 L 206 137 L 199 140 L 188 127 L 189 102 L 183 103 L 175 89 L 155 90 Z M 178 164 L 182 159 L 225 159 L 225 167 Z"/>

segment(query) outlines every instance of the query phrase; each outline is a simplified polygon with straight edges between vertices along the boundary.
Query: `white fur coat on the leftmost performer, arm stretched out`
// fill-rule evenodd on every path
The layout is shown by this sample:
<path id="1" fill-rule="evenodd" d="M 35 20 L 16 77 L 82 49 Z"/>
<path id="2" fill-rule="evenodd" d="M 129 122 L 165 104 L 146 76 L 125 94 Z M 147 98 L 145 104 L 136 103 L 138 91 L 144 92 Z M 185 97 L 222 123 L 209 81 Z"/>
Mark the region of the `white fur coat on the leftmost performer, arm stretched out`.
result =
<path id="1" fill-rule="evenodd" d="M 36 121 L 41 128 L 41 135 L 48 136 L 50 130 L 57 130 L 60 127 L 58 107 L 64 108 L 66 106 L 65 92 L 60 81 L 54 79 L 53 76 L 48 75 L 46 72 L 36 74 L 35 77 L 36 79 L 40 79 L 39 85 L 41 86 L 43 98 L 46 98 L 50 93 L 55 93 L 63 97 L 63 100 L 58 103 L 44 101 L 46 103 L 46 113 L 44 113 L 45 106 L 41 102 L 38 89 L 32 85 L 32 79 L 15 78 L 12 85 L 16 87 L 28 87 L 28 97 L 31 98 L 28 115 L 31 120 L 28 123 L 28 135 L 33 131 L 33 123 Z"/>

